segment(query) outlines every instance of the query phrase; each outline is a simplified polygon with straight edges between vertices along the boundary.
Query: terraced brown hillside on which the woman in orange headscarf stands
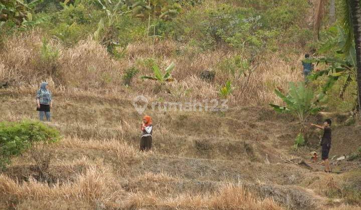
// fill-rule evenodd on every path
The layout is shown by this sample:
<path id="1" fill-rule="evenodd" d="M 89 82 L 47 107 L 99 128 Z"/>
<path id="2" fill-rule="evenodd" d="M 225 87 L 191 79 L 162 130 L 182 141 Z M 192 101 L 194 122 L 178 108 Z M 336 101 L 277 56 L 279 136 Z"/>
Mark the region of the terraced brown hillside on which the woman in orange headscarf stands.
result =
<path id="1" fill-rule="evenodd" d="M 2 90 L 2 119 L 36 118 L 31 92 Z M 46 175 L 28 154 L 15 159 L 0 175 L 1 208 L 325 209 L 344 202 L 329 191 L 347 173 L 317 171 L 305 152 L 295 153 L 295 122 L 268 108 L 147 112 L 154 147 L 142 153 L 131 100 L 58 90 L 55 101 L 50 124 L 64 139 L 49 148 Z M 304 158 L 313 169 L 281 156 Z"/>

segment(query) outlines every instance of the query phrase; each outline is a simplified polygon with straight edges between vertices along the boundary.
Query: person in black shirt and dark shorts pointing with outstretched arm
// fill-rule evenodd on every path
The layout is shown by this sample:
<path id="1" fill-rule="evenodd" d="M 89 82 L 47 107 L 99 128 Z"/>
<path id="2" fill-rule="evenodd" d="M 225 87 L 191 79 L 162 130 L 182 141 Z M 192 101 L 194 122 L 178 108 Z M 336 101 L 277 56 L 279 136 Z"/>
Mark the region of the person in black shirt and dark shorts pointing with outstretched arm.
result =
<path id="1" fill-rule="evenodd" d="M 321 139 L 321 146 L 322 146 L 322 160 L 324 162 L 324 166 L 325 172 L 330 172 L 330 166 L 329 166 L 329 160 L 328 160 L 328 152 L 331 148 L 331 119 L 326 119 L 323 122 L 323 126 L 322 125 L 317 125 L 317 124 L 313 124 L 311 123 L 312 126 L 315 126 L 317 128 L 323 129 L 323 136 Z"/>

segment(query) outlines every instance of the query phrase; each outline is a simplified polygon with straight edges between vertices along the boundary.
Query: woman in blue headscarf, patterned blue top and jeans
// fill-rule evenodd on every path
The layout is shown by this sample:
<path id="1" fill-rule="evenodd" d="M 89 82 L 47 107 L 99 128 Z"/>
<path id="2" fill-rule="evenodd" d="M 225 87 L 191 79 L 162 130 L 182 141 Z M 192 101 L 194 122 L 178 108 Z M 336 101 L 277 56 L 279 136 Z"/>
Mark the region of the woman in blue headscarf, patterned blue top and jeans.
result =
<path id="1" fill-rule="evenodd" d="M 44 121 L 44 115 L 47 118 L 47 121 L 50 121 L 50 108 L 53 106 L 52 94 L 48 89 L 48 82 L 42 82 L 40 89 L 38 89 L 36 94 L 37 99 L 37 110 L 39 111 L 39 118 L 41 121 Z"/>

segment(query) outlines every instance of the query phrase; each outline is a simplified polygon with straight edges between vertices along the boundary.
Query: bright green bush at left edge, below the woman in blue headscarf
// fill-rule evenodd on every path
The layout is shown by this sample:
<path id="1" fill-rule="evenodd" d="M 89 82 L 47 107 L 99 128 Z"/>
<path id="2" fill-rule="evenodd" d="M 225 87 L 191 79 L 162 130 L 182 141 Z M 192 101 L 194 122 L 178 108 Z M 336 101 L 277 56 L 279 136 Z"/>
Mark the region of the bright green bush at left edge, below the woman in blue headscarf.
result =
<path id="1" fill-rule="evenodd" d="M 0 169 L 38 143 L 49 144 L 60 139 L 59 131 L 41 122 L 1 122 L 0 123 Z"/>

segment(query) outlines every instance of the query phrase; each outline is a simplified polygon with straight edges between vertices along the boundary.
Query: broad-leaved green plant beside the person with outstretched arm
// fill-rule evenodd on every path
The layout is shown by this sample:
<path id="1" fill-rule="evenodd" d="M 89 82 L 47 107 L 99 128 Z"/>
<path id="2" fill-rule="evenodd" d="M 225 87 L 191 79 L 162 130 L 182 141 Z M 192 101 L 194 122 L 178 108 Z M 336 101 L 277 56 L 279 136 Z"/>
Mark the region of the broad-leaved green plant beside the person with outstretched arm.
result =
<path id="1" fill-rule="evenodd" d="M 321 107 L 316 105 L 316 101 L 320 100 L 322 95 L 314 97 L 312 89 L 305 87 L 304 82 L 298 82 L 297 85 L 294 82 L 290 82 L 287 95 L 284 95 L 278 89 L 275 89 L 275 93 L 286 103 L 286 106 L 272 103 L 270 103 L 270 105 L 275 111 L 297 116 L 300 124 L 300 133 L 304 136 L 304 127 L 307 118 L 311 114 L 316 114 L 321 110 Z"/>

